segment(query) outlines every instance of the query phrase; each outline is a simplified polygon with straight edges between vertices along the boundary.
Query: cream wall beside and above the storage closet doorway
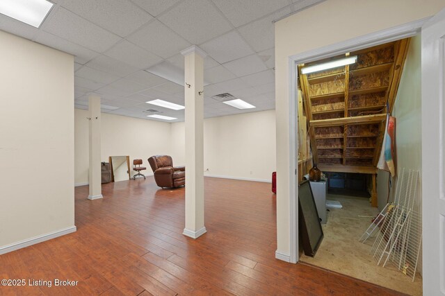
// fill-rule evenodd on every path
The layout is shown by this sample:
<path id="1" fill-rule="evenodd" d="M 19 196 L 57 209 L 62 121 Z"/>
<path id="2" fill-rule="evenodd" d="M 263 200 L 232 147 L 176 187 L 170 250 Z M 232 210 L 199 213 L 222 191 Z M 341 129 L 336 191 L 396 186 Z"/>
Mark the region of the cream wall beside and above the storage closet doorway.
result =
<path id="1" fill-rule="evenodd" d="M 277 112 L 277 252 L 290 254 L 289 56 L 337 44 L 424 17 L 442 0 L 327 0 L 275 23 Z"/>

